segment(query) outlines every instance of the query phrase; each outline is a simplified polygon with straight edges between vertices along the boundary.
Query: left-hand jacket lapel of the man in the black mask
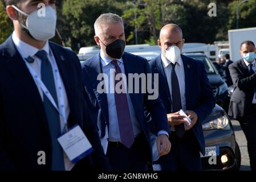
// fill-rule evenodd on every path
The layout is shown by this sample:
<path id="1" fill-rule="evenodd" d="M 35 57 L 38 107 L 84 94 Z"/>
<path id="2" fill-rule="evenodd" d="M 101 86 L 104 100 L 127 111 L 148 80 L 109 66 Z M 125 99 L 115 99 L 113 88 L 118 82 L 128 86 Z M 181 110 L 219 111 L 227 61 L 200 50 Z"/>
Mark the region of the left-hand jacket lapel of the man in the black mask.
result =
<path id="1" fill-rule="evenodd" d="M 94 90 L 97 101 L 99 102 L 99 106 L 100 106 L 101 110 L 103 111 L 103 116 L 105 118 L 105 121 L 107 122 L 107 125 L 109 126 L 107 94 L 105 94 L 105 93 L 100 94 L 99 92 L 97 92 L 97 85 L 100 83 L 100 81 L 97 80 L 97 76 L 100 73 L 103 73 L 102 68 L 101 68 L 101 62 L 100 62 L 100 53 L 98 53 L 96 55 L 95 60 L 91 61 L 90 67 L 92 69 L 87 70 L 89 78 L 90 78 L 90 84 L 92 85 L 92 89 Z"/>

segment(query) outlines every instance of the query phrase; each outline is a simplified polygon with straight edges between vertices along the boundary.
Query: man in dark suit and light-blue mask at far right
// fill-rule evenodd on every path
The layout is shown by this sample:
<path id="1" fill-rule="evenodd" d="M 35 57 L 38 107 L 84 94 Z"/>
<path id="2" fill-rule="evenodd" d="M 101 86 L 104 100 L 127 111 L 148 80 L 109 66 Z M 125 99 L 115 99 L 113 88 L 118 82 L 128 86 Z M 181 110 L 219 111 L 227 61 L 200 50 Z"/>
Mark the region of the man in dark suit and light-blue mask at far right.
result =
<path id="1" fill-rule="evenodd" d="M 241 43 L 243 59 L 229 66 L 234 84 L 230 99 L 229 115 L 237 119 L 247 139 L 251 170 L 256 171 L 256 66 L 255 44 Z"/>

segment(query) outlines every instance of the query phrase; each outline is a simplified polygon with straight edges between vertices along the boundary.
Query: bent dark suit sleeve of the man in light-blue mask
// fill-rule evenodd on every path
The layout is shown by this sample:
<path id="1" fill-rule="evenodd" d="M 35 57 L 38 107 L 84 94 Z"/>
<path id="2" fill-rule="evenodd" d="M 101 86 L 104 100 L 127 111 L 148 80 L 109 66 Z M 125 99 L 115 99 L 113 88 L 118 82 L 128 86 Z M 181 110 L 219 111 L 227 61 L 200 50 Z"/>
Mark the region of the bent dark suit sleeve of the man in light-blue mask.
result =
<path id="1" fill-rule="evenodd" d="M 251 89 L 251 87 L 256 85 L 256 73 L 244 78 L 241 72 L 237 69 L 237 64 L 229 65 L 229 72 L 232 78 L 233 84 L 236 85 L 240 90 Z"/>

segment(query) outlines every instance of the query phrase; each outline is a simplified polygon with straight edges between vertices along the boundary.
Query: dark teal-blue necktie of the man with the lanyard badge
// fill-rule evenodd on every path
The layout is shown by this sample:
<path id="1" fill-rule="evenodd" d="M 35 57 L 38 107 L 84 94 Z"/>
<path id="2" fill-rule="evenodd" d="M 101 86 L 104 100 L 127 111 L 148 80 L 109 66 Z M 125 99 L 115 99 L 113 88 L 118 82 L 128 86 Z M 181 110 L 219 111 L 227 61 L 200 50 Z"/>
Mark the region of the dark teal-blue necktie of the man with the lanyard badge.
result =
<path id="1" fill-rule="evenodd" d="M 48 89 L 48 91 L 51 93 L 52 98 L 54 98 L 54 101 L 56 102 L 56 105 L 58 106 L 58 98 L 57 93 L 55 89 L 55 81 L 54 81 L 54 75 L 52 72 L 51 63 L 47 58 L 46 51 L 38 51 L 35 55 L 40 60 L 42 60 L 41 65 L 41 79 Z M 45 94 L 43 94 L 43 106 L 46 111 L 46 117 L 48 126 L 50 129 L 51 134 L 51 145 L 52 145 L 52 163 L 51 167 L 53 171 L 64 171 L 64 158 L 63 158 L 63 150 L 60 147 L 60 144 L 57 140 L 59 137 L 61 131 L 60 131 L 60 118 L 59 118 L 59 112 L 55 109 L 55 107 L 51 104 L 50 100 L 46 97 Z"/>

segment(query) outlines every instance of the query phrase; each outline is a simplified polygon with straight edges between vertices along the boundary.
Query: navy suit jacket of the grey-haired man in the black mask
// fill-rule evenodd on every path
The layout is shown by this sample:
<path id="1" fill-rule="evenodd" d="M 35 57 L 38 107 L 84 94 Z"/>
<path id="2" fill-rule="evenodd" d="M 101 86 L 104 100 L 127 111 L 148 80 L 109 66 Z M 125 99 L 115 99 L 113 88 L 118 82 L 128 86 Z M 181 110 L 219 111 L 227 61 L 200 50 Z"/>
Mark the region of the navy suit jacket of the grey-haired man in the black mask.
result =
<path id="1" fill-rule="evenodd" d="M 135 56 L 130 53 L 124 52 L 123 55 L 125 75 L 128 79 L 129 73 L 151 73 L 151 69 L 149 67 L 149 63 L 146 59 L 140 56 Z M 100 53 L 95 55 L 89 60 L 84 61 L 82 64 L 82 69 L 84 73 L 84 86 L 86 88 L 86 92 L 88 94 L 88 103 L 90 102 L 90 112 L 92 117 L 94 117 L 95 122 L 99 128 L 99 135 L 101 138 L 101 144 L 107 146 L 108 139 L 104 138 L 105 136 L 105 128 L 109 125 L 108 119 L 108 102 L 107 102 L 107 94 L 102 93 L 99 94 L 97 92 L 97 85 L 99 84 L 99 80 L 97 80 L 97 76 L 102 73 L 101 61 L 100 61 Z M 127 80 L 128 83 L 128 80 Z M 140 87 L 141 87 L 140 82 Z M 146 86 L 146 85 L 145 85 Z M 133 84 L 133 89 L 135 88 Z M 154 119 L 154 124 L 156 127 L 156 131 L 165 130 L 169 132 L 169 126 L 167 123 L 166 111 L 164 109 L 164 105 L 160 98 L 156 100 L 148 100 L 148 92 L 147 93 L 130 93 L 131 101 L 133 104 L 133 108 L 135 109 L 135 114 L 137 120 L 140 123 L 142 132 L 145 134 L 148 142 L 148 150 L 151 151 L 151 139 L 149 137 L 149 126 L 147 124 L 147 120 L 145 119 L 144 108 L 151 113 L 152 118 Z M 109 128 L 109 127 L 107 127 Z M 106 148 L 105 148 L 106 150 Z M 147 151 L 147 150 L 145 150 Z M 152 159 L 150 159 L 152 160 Z"/>

